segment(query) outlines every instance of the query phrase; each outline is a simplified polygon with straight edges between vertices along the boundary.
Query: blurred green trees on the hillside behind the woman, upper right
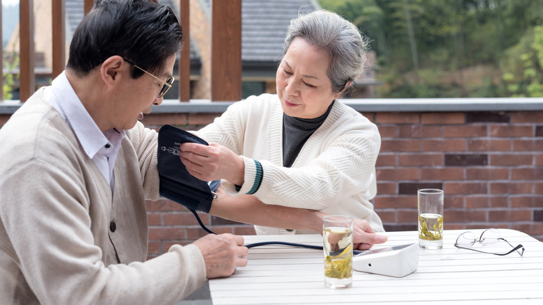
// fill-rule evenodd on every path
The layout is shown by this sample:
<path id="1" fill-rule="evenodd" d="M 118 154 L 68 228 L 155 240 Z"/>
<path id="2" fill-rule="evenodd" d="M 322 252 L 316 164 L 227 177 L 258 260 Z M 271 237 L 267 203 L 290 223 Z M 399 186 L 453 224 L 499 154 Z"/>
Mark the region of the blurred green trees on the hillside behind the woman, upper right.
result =
<path id="1" fill-rule="evenodd" d="M 385 83 L 378 87 L 381 97 L 543 96 L 543 0 L 320 4 L 347 17 L 370 38 L 380 66 L 377 79 Z M 491 73 L 463 72 L 481 65 Z M 494 77 L 495 70 L 501 70 L 501 79 Z M 446 77 L 455 74 L 461 77 Z"/>

